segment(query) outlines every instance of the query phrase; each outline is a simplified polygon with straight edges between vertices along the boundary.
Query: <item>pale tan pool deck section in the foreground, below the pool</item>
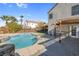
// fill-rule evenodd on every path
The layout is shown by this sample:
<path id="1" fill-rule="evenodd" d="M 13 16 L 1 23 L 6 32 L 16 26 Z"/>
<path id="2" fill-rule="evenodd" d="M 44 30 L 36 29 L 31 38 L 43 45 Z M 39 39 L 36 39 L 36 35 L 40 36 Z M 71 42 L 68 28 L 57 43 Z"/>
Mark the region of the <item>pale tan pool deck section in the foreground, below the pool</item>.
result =
<path id="1" fill-rule="evenodd" d="M 38 56 L 46 51 L 43 45 L 34 44 L 32 46 L 17 49 L 16 52 L 20 56 Z"/>

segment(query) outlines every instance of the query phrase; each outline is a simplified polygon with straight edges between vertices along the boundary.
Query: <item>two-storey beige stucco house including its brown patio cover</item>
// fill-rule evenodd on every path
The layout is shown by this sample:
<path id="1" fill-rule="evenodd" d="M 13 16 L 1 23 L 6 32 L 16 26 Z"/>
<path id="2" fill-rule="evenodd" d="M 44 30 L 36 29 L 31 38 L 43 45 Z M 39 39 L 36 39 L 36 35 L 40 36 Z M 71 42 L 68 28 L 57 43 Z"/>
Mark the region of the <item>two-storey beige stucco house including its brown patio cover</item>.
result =
<path id="1" fill-rule="evenodd" d="M 48 33 L 79 37 L 79 3 L 56 3 L 48 12 Z"/>

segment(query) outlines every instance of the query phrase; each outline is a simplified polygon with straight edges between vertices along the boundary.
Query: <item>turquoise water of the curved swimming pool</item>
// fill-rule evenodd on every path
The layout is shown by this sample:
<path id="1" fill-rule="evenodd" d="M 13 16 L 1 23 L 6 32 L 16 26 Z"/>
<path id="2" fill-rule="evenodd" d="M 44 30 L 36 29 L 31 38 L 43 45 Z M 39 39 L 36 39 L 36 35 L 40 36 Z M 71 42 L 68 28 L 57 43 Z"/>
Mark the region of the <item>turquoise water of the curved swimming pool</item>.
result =
<path id="1" fill-rule="evenodd" d="M 16 49 L 24 48 L 36 43 L 37 39 L 32 34 L 20 34 L 10 38 L 8 43 L 14 44 Z"/>

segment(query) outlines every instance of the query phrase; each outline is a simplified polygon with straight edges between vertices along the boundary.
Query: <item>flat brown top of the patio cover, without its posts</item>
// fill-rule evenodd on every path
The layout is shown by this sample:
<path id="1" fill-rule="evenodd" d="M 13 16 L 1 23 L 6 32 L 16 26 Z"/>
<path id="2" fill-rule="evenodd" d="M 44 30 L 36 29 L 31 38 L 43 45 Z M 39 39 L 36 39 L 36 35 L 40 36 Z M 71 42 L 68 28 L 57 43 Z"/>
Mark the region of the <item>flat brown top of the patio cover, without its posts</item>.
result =
<path id="1" fill-rule="evenodd" d="M 69 18 L 60 19 L 58 22 L 56 22 L 56 25 L 60 25 L 60 24 L 61 25 L 79 24 L 79 16 L 72 16 Z"/>

